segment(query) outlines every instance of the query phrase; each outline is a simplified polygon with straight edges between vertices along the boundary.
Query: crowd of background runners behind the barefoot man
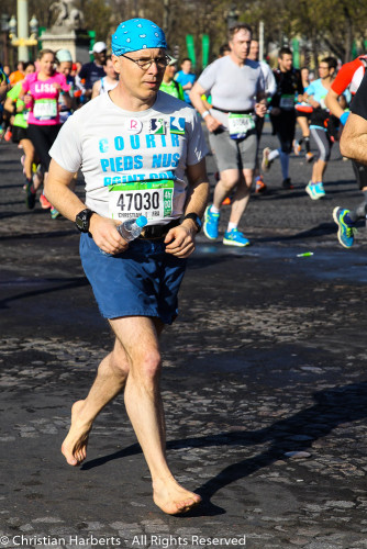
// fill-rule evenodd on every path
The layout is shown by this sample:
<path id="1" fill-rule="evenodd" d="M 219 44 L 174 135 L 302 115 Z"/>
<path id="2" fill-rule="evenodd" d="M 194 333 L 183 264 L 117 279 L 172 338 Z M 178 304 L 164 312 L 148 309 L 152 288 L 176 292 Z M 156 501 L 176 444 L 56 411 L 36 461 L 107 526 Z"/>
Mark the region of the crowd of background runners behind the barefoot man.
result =
<path id="1" fill-rule="evenodd" d="M 293 189 L 290 155 L 304 154 L 307 163 L 312 163 L 312 176 L 304 191 L 311 200 L 325 197 L 323 178 L 331 150 L 341 137 L 367 63 L 367 56 L 359 56 L 340 67 L 336 58 L 327 56 L 320 60 L 314 71 L 319 72 L 316 78 L 308 67 L 293 67 L 288 47 L 279 51 L 274 70 L 258 60 L 258 49 L 251 27 L 236 25 L 230 30 L 229 43 L 221 46 L 218 59 L 198 78 L 189 58 L 184 58 L 179 67 L 178 59 L 169 56 L 160 86 L 165 93 L 193 107 L 207 125 L 218 171 L 203 232 L 209 239 L 216 240 L 222 205 L 231 204 L 223 235 L 223 244 L 231 246 L 249 245 L 238 225 L 251 193 L 266 192 L 266 172 L 277 158 L 282 189 Z M 12 141 L 22 149 L 26 206 L 34 209 L 38 195 L 41 208 L 49 210 L 52 219 L 58 217 L 59 212 L 43 193 L 51 163 L 48 152 L 62 125 L 75 111 L 118 85 L 119 75 L 107 55 L 107 44 L 97 42 L 90 54 L 93 60 L 82 65 L 67 49 L 43 49 L 37 59 L 20 61 L 13 71 L 9 66 L 1 67 L 0 138 Z M 273 150 L 264 147 L 260 155 L 265 120 L 270 121 L 279 146 Z M 297 124 L 299 139 L 296 139 Z M 367 215 L 366 167 L 353 161 L 353 168 L 363 200 L 355 211 L 336 208 L 333 212 L 338 240 L 346 248 L 354 243 L 357 220 Z M 77 173 L 75 181 L 76 178 Z"/>

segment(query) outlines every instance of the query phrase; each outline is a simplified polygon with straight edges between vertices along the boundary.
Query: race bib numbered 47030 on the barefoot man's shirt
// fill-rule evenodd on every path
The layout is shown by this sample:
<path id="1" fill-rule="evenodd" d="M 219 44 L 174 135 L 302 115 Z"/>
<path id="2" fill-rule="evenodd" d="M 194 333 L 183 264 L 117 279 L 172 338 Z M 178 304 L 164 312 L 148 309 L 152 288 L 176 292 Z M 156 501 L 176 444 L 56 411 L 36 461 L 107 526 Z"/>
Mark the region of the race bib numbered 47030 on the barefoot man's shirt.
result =
<path id="1" fill-rule="evenodd" d="M 175 182 L 135 181 L 113 184 L 109 189 L 109 211 L 113 220 L 130 220 L 145 215 L 148 221 L 169 217 L 173 213 Z"/>

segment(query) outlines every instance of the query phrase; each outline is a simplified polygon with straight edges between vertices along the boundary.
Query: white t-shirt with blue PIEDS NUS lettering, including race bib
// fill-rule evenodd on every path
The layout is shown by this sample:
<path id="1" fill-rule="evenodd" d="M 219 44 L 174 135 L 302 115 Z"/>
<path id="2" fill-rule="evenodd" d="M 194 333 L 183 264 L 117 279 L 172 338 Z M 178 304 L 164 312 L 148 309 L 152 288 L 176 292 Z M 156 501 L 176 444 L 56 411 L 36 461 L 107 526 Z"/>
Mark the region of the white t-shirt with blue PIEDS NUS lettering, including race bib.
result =
<path id="1" fill-rule="evenodd" d="M 151 109 L 138 112 L 120 109 L 109 93 L 97 97 L 67 120 L 49 150 L 67 171 L 81 167 L 90 210 L 124 221 L 146 215 L 147 208 L 151 225 L 180 217 L 186 167 L 207 154 L 196 111 L 162 91 Z M 154 190 L 160 184 L 170 189 Z"/>

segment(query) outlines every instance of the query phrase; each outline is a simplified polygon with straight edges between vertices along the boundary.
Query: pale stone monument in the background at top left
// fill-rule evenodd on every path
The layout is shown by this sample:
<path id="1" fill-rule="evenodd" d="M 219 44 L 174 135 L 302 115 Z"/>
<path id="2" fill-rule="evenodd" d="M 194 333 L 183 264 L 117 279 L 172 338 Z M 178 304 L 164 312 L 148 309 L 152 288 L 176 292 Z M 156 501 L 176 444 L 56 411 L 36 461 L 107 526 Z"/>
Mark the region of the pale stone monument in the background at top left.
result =
<path id="1" fill-rule="evenodd" d="M 85 16 L 74 5 L 74 0 L 55 0 L 49 5 L 49 23 L 54 24 L 40 37 L 43 48 L 68 49 L 73 60 L 88 63 L 90 36 L 85 30 Z"/>

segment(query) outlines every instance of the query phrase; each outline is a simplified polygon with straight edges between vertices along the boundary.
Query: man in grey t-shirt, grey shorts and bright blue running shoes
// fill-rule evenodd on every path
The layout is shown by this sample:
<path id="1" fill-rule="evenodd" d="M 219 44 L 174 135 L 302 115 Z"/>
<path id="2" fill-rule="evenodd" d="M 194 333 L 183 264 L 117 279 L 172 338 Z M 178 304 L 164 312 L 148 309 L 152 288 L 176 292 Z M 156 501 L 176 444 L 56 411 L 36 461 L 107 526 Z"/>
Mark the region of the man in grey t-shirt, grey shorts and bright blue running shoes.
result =
<path id="1" fill-rule="evenodd" d="M 213 204 L 205 210 L 204 233 L 214 240 L 219 235 L 220 208 L 235 189 L 230 223 L 223 244 L 248 246 L 238 231 L 247 206 L 256 164 L 257 135 L 255 114 L 266 113 L 265 83 L 259 64 L 248 59 L 252 29 L 244 23 L 229 31 L 231 54 L 209 65 L 194 83 L 190 99 L 209 130 L 209 141 L 220 181 Z M 201 96 L 212 96 L 213 107 L 207 110 Z"/>

